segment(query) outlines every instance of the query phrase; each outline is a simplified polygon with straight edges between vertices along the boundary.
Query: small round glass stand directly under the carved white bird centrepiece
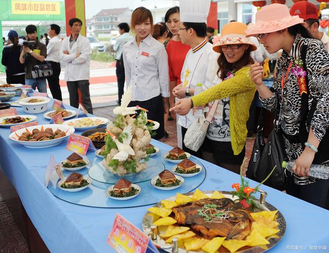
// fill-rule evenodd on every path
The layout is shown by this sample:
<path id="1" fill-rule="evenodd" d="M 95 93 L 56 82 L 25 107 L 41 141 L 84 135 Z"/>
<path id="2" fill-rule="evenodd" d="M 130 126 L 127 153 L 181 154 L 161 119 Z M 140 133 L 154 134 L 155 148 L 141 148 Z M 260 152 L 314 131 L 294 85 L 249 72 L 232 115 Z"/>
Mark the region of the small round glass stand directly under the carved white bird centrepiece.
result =
<path id="1" fill-rule="evenodd" d="M 96 180 L 105 184 L 115 184 L 118 180 L 124 177 L 126 180 L 129 180 L 133 184 L 143 183 L 151 180 L 163 170 L 165 170 L 165 165 L 156 159 L 148 158 L 146 162 L 147 168 L 144 171 L 135 173 L 135 174 L 127 174 L 123 176 L 118 176 L 111 173 L 108 170 L 105 170 L 102 161 L 92 165 L 88 171 L 88 175 L 92 180 Z"/>

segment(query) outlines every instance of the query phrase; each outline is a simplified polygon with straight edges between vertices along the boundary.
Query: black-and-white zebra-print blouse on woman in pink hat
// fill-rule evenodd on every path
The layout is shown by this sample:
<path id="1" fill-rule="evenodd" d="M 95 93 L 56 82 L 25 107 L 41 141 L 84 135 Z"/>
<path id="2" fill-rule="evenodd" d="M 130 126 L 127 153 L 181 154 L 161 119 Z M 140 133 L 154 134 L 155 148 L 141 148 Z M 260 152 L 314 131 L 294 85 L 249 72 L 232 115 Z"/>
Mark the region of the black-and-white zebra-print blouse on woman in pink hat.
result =
<path id="1" fill-rule="evenodd" d="M 317 100 L 316 110 L 312 117 L 310 126 L 313 129 L 315 137 L 321 141 L 326 130 L 329 128 L 329 54 L 320 40 L 296 36 L 290 54 L 284 51 L 276 63 L 277 74 L 272 86 L 275 90 L 273 96 L 267 99 L 260 98 L 260 100 L 266 109 L 274 111 L 277 100 L 276 93 L 279 93 L 279 95 L 282 93 L 281 78 L 283 78 L 283 69 L 285 69 L 286 76 L 286 71 L 290 62 L 297 58 L 301 59 L 301 48 L 302 45 L 305 44 L 308 45 L 306 66 L 309 80 L 309 108 L 313 98 Z M 298 134 L 302 102 L 298 79 L 291 71 L 288 74 L 284 86 L 283 96 L 279 96 L 279 101 L 281 104 L 281 112 L 279 116 L 281 129 L 287 135 Z M 310 126 L 307 126 L 307 130 L 309 130 Z M 303 151 L 300 143 L 291 143 L 285 136 L 284 144 L 290 160 L 296 159 Z M 312 177 L 294 176 L 296 184 L 305 185 L 315 182 L 315 179 Z"/>

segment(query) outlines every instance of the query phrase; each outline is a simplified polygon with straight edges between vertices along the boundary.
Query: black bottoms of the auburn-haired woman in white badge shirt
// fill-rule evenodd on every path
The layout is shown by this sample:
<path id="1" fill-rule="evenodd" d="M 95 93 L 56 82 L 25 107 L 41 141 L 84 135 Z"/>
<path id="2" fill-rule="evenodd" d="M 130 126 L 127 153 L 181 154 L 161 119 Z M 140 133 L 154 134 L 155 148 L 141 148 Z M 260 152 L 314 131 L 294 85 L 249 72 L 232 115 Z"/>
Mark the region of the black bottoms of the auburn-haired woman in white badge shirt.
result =
<path id="1" fill-rule="evenodd" d="M 128 105 L 130 106 L 140 106 L 144 109 L 147 109 L 149 112 L 148 114 L 148 119 L 152 119 L 154 121 L 158 121 L 160 123 L 159 128 L 155 131 L 156 136 L 153 137 L 153 139 L 159 140 L 163 137 L 164 135 L 164 108 L 163 108 L 163 102 L 162 102 L 162 97 L 161 94 L 157 97 L 151 98 L 146 101 L 131 101 Z M 140 110 L 137 110 L 137 114 L 139 113 Z"/>

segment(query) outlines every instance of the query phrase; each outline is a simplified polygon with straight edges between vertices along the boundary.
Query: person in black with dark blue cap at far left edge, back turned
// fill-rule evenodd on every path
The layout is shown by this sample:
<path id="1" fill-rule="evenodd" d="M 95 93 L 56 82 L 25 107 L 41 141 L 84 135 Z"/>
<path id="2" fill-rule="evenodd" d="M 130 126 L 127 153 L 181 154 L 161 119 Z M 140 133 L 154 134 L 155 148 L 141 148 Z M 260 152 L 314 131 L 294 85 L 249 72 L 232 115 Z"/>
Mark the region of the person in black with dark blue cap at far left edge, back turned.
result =
<path id="1" fill-rule="evenodd" d="M 1 59 L 2 65 L 6 67 L 6 81 L 7 83 L 22 83 L 22 85 L 25 85 L 24 65 L 19 61 L 22 47 L 18 43 L 17 32 L 10 30 L 8 40 L 11 43 L 4 47 Z"/>

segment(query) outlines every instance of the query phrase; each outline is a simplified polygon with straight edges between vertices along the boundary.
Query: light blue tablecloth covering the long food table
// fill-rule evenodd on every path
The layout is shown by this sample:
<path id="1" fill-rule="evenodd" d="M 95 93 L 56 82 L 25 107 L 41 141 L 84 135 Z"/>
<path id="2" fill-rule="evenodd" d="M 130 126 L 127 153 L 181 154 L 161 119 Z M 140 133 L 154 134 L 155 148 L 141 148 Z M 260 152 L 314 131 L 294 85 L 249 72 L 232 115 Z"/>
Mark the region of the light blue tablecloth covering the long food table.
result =
<path id="1" fill-rule="evenodd" d="M 49 105 L 50 109 L 51 105 Z M 20 114 L 22 108 L 17 108 Z M 48 123 L 37 114 L 40 124 Z M 44 149 L 29 149 L 9 140 L 9 128 L 0 128 L 0 165 L 15 186 L 33 225 L 51 252 L 112 252 L 106 239 L 114 216 L 121 214 L 138 228 L 147 208 L 94 208 L 71 204 L 56 198 L 44 184 L 45 166 L 53 153 L 59 162 L 70 154 L 66 142 Z M 81 132 L 76 132 L 81 134 Z M 169 146 L 156 142 L 160 149 Z M 231 190 L 231 184 L 240 182 L 239 175 L 204 161 L 207 177 L 201 190 Z M 256 182 L 251 181 L 251 186 Z M 329 251 L 329 211 L 304 202 L 272 188 L 262 186 L 268 193 L 266 200 L 280 210 L 287 222 L 284 238 L 270 252 L 284 252 L 296 246 L 309 250 L 326 246 Z M 175 195 L 175 192 L 172 192 Z"/>

